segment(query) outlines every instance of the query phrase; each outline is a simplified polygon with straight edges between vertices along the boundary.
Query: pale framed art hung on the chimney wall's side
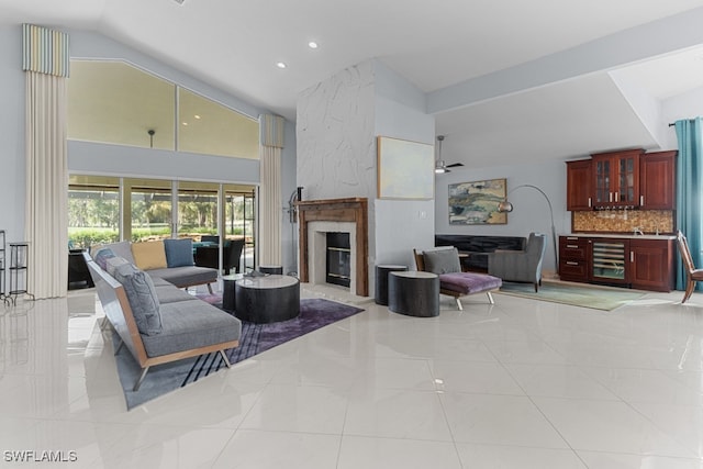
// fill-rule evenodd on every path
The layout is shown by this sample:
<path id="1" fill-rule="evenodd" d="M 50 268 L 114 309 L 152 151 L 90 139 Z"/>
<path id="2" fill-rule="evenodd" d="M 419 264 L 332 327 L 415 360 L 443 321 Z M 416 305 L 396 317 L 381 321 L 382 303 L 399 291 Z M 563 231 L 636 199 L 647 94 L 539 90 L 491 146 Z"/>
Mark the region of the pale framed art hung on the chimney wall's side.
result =
<path id="1" fill-rule="evenodd" d="M 376 143 L 379 199 L 434 199 L 433 145 L 383 136 Z"/>

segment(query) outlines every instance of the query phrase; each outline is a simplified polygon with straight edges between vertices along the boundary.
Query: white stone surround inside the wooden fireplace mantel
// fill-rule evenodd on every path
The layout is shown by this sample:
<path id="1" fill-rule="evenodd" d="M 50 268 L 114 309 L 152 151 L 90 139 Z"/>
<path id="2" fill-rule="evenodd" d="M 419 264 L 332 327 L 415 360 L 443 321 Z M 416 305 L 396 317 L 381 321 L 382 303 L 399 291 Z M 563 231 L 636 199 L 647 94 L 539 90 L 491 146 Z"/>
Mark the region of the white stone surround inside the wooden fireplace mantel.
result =
<path id="1" fill-rule="evenodd" d="M 354 222 L 309 222 L 308 223 L 308 282 L 327 283 L 327 233 L 348 233 L 350 255 L 349 292 L 356 291 L 356 223 Z M 342 288 L 342 287 L 341 287 Z"/>

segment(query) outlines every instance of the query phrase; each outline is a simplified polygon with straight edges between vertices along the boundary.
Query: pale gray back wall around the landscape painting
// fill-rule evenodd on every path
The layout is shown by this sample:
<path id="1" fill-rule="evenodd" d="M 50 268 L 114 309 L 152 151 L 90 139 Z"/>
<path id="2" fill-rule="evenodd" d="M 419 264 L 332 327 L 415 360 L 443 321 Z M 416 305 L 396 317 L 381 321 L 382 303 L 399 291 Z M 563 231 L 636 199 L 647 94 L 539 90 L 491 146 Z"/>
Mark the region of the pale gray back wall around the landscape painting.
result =
<path id="1" fill-rule="evenodd" d="M 511 190 L 521 185 L 533 185 L 542 189 L 554 209 L 557 236 L 571 232 L 571 214 L 567 212 L 567 169 L 561 161 L 542 165 L 502 166 L 494 168 L 459 168 L 437 177 L 435 226 L 438 234 L 527 236 L 531 232 L 542 232 L 548 236 L 544 269 L 555 271 L 555 256 L 551 241 L 549 206 L 545 198 L 532 188 Z M 509 200 L 514 210 L 507 214 L 504 225 L 450 225 L 448 208 L 448 186 L 450 183 L 507 179 Z M 557 239 L 558 241 L 558 239 Z"/>

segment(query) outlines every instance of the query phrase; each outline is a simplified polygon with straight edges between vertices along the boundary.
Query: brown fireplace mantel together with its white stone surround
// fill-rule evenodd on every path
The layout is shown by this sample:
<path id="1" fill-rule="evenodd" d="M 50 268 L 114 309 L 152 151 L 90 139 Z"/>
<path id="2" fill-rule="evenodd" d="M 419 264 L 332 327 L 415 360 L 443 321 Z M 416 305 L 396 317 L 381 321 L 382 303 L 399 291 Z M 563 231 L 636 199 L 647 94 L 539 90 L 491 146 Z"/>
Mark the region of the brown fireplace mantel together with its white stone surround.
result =
<path id="1" fill-rule="evenodd" d="M 300 226 L 300 281 L 327 283 L 327 233 L 349 236 L 349 291 L 369 294 L 367 199 L 297 202 Z"/>

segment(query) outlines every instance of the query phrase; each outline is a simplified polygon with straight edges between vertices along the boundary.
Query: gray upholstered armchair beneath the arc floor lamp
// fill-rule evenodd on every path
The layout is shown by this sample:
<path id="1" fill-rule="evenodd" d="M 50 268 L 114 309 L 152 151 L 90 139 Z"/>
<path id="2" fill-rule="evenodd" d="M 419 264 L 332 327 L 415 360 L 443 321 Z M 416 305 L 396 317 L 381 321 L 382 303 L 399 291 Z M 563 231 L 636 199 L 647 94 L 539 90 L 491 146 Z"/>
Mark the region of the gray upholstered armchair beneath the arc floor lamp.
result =
<path id="1" fill-rule="evenodd" d="M 542 284 L 542 261 L 545 257 L 547 237 L 531 233 L 525 250 L 495 250 L 488 258 L 488 273 L 503 281 L 529 282 L 535 291 Z"/>

